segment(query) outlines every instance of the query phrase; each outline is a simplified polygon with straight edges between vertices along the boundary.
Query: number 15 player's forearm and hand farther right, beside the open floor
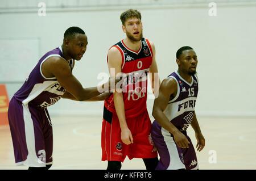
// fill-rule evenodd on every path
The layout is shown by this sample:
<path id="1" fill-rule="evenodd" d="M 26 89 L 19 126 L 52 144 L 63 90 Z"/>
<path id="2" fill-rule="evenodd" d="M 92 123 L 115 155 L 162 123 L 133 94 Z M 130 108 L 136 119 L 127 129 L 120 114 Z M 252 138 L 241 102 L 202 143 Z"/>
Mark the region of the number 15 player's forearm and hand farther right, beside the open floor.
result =
<path id="1" fill-rule="evenodd" d="M 201 151 L 204 149 L 205 139 L 204 139 L 203 134 L 201 133 L 201 129 L 200 129 L 199 123 L 196 118 L 196 112 L 194 112 L 193 120 L 191 121 L 190 124 L 196 134 L 196 140 L 197 140 L 196 149 L 197 149 L 197 151 Z"/>

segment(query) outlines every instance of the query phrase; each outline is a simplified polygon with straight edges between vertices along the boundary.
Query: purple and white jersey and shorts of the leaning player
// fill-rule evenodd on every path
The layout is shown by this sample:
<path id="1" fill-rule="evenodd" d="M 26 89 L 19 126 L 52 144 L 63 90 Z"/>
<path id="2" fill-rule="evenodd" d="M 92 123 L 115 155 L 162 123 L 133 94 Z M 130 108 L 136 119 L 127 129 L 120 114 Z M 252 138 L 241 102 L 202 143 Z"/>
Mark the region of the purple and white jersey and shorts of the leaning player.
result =
<path id="1" fill-rule="evenodd" d="M 8 118 L 17 165 L 44 167 L 52 164 L 52 125 L 47 107 L 60 100 L 65 92 L 55 77 L 46 78 L 42 73 L 43 62 L 53 56 L 63 56 L 61 47 L 40 58 L 10 100 Z M 74 60 L 68 62 L 72 70 Z"/>

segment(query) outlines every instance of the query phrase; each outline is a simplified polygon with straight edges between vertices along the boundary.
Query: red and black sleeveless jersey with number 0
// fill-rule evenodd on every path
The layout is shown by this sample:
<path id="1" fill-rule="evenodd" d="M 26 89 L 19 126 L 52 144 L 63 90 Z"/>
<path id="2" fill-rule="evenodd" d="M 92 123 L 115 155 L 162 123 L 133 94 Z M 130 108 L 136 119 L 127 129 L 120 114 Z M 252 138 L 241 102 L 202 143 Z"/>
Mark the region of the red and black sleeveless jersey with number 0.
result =
<path id="1" fill-rule="evenodd" d="M 122 73 L 129 73 L 122 85 L 125 116 L 135 117 L 147 109 L 147 76 L 152 64 L 152 48 L 144 38 L 138 52 L 129 49 L 123 40 L 112 47 L 117 48 L 122 55 Z M 113 94 L 105 100 L 104 106 L 115 113 Z"/>

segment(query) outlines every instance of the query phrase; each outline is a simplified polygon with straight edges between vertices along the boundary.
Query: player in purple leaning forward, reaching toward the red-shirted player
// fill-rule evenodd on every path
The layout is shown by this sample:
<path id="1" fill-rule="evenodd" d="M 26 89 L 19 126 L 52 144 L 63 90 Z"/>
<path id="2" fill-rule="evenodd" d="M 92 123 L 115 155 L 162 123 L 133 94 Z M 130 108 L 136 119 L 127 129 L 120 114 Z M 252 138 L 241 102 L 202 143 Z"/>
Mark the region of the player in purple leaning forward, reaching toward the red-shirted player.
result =
<path id="1" fill-rule="evenodd" d="M 81 28 L 68 28 L 63 44 L 40 58 L 11 99 L 8 117 L 17 165 L 31 170 L 51 167 L 53 139 L 48 106 L 60 98 L 96 101 L 109 95 L 101 94 L 97 87 L 83 88 L 72 74 L 75 60 L 82 58 L 87 44 Z"/>

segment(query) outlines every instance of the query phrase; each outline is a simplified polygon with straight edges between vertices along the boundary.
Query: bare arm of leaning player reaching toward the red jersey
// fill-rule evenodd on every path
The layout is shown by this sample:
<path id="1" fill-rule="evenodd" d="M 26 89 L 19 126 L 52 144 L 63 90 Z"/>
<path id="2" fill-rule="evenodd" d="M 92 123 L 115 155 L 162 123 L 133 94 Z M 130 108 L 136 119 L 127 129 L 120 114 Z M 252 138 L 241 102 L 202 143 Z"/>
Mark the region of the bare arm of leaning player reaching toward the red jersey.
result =
<path id="1" fill-rule="evenodd" d="M 83 88 L 81 83 L 72 74 L 68 62 L 62 57 L 50 57 L 42 65 L 46 77 L 56 77 L 60 85 L 71 93 L 76 100 L 83 101 L 100 95 L 98 87 Z"/>

